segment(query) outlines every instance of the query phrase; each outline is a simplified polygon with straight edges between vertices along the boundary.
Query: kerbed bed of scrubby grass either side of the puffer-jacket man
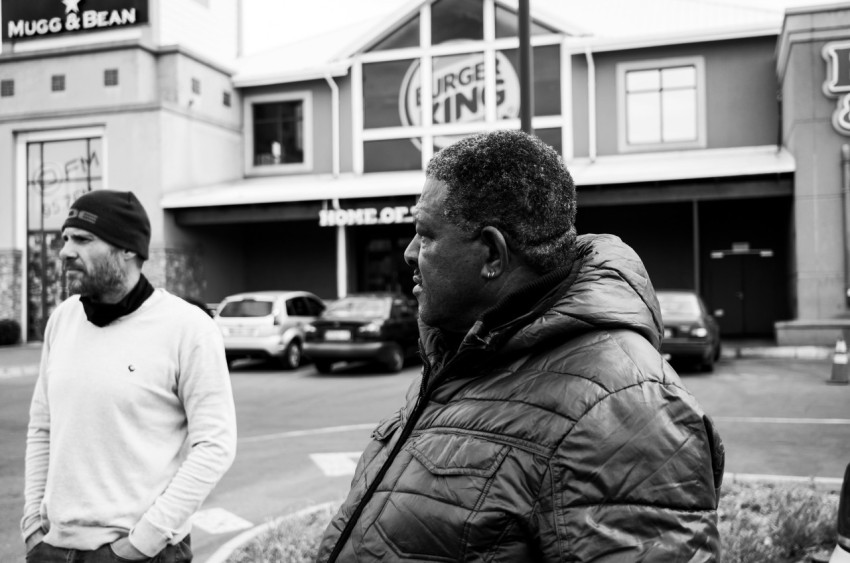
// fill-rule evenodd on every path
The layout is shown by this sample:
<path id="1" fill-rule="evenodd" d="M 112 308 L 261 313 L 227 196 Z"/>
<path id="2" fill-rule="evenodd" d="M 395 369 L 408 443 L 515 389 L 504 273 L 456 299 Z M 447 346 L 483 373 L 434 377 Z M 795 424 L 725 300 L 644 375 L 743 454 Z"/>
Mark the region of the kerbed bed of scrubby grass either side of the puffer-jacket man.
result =
<path id="1" fill-rule="evenodd" d="M 227 563 L 315 561 L 336 509 L 288 518 L 235 551 Z M 835 546 L 838 494 L 814 486 L 731 483 L 720 496 L 724 563 L 795 563 Z"/>

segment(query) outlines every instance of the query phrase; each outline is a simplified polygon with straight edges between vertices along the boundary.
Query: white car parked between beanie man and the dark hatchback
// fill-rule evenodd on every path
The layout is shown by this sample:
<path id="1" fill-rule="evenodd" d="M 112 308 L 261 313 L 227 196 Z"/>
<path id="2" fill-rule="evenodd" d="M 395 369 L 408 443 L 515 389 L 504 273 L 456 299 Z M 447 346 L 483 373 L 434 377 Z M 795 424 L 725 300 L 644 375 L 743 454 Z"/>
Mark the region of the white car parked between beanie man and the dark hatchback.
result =
<path id="1" fill-rule="evenodd" d="M 215 321 L 224 337 L 228 363 L 238 358 L 278 361 L 285 369 L 301 365 L 304 326 L 325 310 L 306 291 L 255 291 L 225 297 Z"/>

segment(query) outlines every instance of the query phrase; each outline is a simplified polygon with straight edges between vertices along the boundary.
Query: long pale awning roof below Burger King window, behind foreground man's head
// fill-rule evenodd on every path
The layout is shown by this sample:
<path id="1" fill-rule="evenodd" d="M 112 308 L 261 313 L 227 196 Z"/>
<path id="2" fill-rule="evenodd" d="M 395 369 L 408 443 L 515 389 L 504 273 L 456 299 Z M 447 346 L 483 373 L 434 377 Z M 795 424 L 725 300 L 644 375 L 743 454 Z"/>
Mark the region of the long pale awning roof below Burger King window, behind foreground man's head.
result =
<path id="1" fill-rule="evenodd" d="M 579 186 L 636 184 L 794 172 L 794 157 L 775 145 L 600 156 L 567 163 Z M 425 173 L 306 174 L 245 178 L 167 193 L 164 209 L 418 195 Z"/>

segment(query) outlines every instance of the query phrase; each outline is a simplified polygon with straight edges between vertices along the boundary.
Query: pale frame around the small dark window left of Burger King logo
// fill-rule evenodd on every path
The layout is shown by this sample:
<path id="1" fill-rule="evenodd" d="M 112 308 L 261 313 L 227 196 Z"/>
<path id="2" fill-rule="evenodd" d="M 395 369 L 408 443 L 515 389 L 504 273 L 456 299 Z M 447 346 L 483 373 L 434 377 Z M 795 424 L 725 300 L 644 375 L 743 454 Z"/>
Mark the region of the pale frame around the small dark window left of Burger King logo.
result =
<path id="1" fill-rule="evenodd" d="M 277 102 L 300 101 L 302 106 L 301 124 L 304 135 L 304 162 L 292 162 L 282 164 L 254 164 L 254 105 Z M 245 175 L 246 176 L 274 176 L 287 173 L 303 173 L 313 171 L 313 93 L 310 90 L 299 90 L 279 94 L 263 94 L 257 96 L 245 96 L 242 101 L 243 115 L 245 116 Z"/>

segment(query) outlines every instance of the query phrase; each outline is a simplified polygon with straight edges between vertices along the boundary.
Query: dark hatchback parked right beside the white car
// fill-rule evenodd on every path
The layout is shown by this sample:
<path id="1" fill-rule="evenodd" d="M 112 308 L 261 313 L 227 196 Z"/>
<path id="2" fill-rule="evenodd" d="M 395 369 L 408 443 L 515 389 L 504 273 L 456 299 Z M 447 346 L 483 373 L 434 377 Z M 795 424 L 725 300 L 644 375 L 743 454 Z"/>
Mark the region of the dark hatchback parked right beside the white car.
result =
<path id="1" fill-rule="evenodd" d="M 400 371 L 418 350 L 417 303 L 400 293 L 356 293 L 343 297 L 306 327 L 304 355 L 319 373 L 339 361 L 371 360 Z"/>

